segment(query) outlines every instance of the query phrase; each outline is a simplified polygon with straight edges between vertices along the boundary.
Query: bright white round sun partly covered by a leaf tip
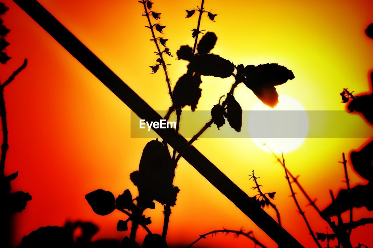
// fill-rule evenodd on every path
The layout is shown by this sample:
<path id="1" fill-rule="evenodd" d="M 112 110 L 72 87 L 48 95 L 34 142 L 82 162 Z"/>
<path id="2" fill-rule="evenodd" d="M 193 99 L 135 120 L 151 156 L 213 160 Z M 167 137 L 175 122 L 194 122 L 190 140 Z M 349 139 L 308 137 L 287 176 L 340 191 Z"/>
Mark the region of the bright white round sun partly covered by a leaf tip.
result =
<path id="1" fill-rule="evenodd" d="M 280 95 L 275 108 L 258 101 L 251 110 L 248 121 L 250 136 L 266 152 L 270 150 L 263 146 L 263 142 L 275 153 L 287 153 L 299 147 L 307 136 L 307 113 L 297 100 L 289 96 Z"/>

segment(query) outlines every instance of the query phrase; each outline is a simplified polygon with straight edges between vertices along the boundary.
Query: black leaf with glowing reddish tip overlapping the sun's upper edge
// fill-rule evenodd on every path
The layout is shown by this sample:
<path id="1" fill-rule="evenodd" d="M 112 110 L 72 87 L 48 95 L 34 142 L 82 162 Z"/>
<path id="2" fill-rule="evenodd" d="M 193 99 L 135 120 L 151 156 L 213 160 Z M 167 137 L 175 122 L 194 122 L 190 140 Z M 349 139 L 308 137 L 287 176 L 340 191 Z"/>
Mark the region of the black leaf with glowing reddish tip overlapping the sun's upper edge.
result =
<path id="1" fill-rule="evenodd" d="M 244 69 L 245 85 L 253 90 L 254 94 L 271 108 L 278 104 L 278 93 L 274 86 L 294 79 L 294 74 L 285 66 L 278 64 L 260 64 L 246 66 Z"/>

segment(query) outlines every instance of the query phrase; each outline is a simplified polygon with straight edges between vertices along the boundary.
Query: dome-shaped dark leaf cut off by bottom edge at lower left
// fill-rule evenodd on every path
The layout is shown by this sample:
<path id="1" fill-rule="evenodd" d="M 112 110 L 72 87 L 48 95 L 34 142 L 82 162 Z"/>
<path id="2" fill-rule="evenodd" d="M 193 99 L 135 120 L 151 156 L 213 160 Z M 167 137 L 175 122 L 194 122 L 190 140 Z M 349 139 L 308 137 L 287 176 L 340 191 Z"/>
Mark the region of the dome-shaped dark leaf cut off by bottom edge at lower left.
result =
<path id="1" fill-rule="evenodd" d="M 65 230 L 59 226 L 46 226 L 23 236 L 18 248 L 66 248 L 69 244 Z"/>

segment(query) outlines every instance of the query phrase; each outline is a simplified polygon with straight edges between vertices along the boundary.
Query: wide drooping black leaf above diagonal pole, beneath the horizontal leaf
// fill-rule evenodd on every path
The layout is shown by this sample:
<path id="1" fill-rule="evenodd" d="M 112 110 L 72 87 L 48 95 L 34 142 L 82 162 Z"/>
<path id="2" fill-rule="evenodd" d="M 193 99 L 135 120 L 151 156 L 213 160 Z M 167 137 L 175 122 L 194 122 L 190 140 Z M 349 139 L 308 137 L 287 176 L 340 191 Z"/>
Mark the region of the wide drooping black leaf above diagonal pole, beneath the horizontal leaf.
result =
<path id="1" fill-rule="evenodd" d="M 198 101 L 201 97 L 200 84 L 201 76 L 198 74 L 184 74 L 176 82 L 172 92 L 173 104 L 176 108 L 183 108 L 186 105 L 191 106 L 192 111 L 197 108 Z"/>

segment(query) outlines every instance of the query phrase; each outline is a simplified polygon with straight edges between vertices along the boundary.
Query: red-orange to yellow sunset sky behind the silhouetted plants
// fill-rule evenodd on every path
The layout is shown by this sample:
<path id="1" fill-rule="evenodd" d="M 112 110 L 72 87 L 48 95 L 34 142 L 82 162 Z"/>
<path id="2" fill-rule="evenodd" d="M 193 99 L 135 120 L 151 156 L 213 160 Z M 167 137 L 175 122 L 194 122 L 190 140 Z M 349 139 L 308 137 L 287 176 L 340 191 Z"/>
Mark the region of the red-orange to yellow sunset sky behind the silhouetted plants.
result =
<path id="1" fill-rule="evenodd" d="M 18 6 L 4 1 L 10 10 L 2 17 L 11 29 L 7 53 L 12 60 L 1 66 L 1 80 L 24 58 L 29 63 L 17 80 L 5 90 L 9 125 L 6 172 L 19 171 L 14 190 L 32 195 L 26 210 L 16 214 L 15 244 L 23 235 L 40 226 L 63 225 L 69 220 L 91 220 L 100 226 L 97 238 L 121 238 L 129 233 L 115 230 L 120 213 L 98 216 L 84 195 L 97 188 L 115 195 L 129 188 L 137 192 L 129 174 L 137 170 L 142 148 L 148 139 L 130 138 L 130 110 L 105 86 L 66 52 L 51 36 Z M 190 29 L 197 16 L 186 19 L 185 9 L 200 3 L 195 0 L 154 0 L 154 10 L 162 12 L 164 37 L 175 54 L 180 45 L 193 44 Z M 63 25 L 75 34 L 153 109 L 165 110 L 170 104 L 162 71 L 154 75 L 154 44 L 142 6 L 136 0 L 73 1 L 41 0 Z M 206 0 L 206 10 L 218 14 L 217 22 L 204 18 L 202 29 L 217 34 L 213 53 L 235 64 L 279 63 L 291 69 L 295 79 L 278 87 L 306 110 L 343 110 L 339 93 L 344 87 L 356 92 L 370 89 L 368 73 L 373 69 L 373 40 L 364 29 L 373 22 L 371 1 L 222 1 Z M 185 72 L 185 61 L 167 58 L 172 83 Z M 203 77 L 198 109 L 209 110 L 224 95 L 232 78 Z M 258 101 L 245 86 L 235 91 L 244 110 Z M 206 117 L 206 120 L 209 117 Z M 358 115 L 349 118 L 360 120 Z M 205 120 L 201 120 L 201 124 Z M 185 123 L 185 124 L 184 124 Z M 182 120 L 187 125 L 188 120 Z M 361 123 L 364 121 L 361 119 Z M 245 123 L 243 124 L 245 126 Z M 246 124 L 247 126 L 247 124 Z M 215 128 L 215 127 L 213 127 Z M 181 133 L 183 132 L 181 126 Z M 348 131 L 348 130 L 347 130 Z M 358 149 L 367 139 L 306 139 L 298 149 L 286 154 L 288 168 L 300 174 L 308 193 L 323 209 L 330 202 L 329 189 L 336 194 L 344 187 L 341 153 Z M 195 146 L 249 195 L 254 169 L 264 191 L 276 191 L 276 205 L 283 226 L 305 247 L 314 247 L 294 202 L 284 173 L 272 155 L 252 139 L 200 139 Z M 350 168 L 352 185 L 363 182 Z M 173 208 L 169 244 L 189 244 L 199 234 L 220 229 L 253 230 L 256 238 L 275 247 L 250 219 L 195 171 L 180 160 L 175 185 L 181 191 Z M 298 194 L 300 203 L 307 202 Z M 147 210 L 153 232 L 162 232 L 163 207 Z M 326 232 L 326 223 L 310 207 L 304 207 L 316 232 Z M 275 214 L 268 210 L 272 216 Z M 373 217 L 365 209 L 358 217 Z M 352 232 L 357 242 L 369 247 L 371 226 Z M 330 232 L 330 230 L 329 230 Z M 140 230 L 139 240 L 145 233 Z M 200 242 L 205 247 L 247 247 L 243 237 L 220 235 Z"/>

